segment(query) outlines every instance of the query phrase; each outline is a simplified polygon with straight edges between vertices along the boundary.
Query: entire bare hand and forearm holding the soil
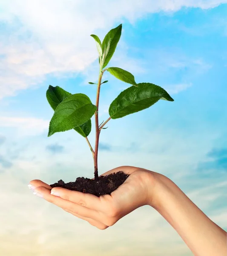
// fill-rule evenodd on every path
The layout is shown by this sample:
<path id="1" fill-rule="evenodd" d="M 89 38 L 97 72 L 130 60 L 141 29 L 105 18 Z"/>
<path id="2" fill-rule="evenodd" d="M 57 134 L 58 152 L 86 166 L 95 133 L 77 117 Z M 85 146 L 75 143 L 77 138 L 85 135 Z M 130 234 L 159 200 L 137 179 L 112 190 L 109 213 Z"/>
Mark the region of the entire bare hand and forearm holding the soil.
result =
<path id="1" fill-rule="evenodd" d="M 101 230 L 114 225 L 138 207 L 149 205 L 170 223 L 195 256 L 227 256 L 227 233 L 172 180 L 133 166 L 121 166 L 103 175 L 119 171 L 130 176 L 111 195 L 97 197 L 60 187 L 52 189 L 41 180 L 32 180 L 30 188 L 46 201 Z"/>

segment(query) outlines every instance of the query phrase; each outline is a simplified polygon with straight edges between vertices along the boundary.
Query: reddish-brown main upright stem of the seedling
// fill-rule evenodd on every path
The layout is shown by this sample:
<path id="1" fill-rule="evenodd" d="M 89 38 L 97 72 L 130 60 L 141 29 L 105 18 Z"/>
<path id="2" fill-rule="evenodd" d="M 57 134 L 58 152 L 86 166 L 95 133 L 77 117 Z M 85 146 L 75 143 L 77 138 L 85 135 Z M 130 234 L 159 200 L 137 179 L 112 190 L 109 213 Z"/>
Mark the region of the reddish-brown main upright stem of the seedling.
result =
<path id="1" fill-rule="evenodd" d="M 97 87 L 97 96 L 96 96 L 96 107 L 97 110 L 95 111 L 95 154 L 94 154 L 94 169 L 95 169 L 95 181 L 99 180 L 98 177 L 98 141 L 99 141 L 99 125 L 98 125 L 98 104 L 99 104 L 99 95 L 100 95 L 100 87 L 101 87 L 101 81 L 102 81 L 102 76 L 105 70 L 101 71 L 98 77 L 98 87 Z"/>

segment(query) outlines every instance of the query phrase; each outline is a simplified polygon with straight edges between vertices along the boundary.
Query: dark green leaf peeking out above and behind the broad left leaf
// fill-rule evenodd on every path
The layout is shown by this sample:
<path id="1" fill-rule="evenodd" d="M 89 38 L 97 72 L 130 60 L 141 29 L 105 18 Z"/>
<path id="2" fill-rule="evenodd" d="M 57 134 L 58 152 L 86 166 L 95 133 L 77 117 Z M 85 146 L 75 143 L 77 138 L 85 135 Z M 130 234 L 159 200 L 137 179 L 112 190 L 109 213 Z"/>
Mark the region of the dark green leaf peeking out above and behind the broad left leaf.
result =
<path id="1" fill-rule="evenodd" d="M 53 87 L 52 85 L 49 85 L 48 90 L 46 91 L 46 99 L 55 110 L 57 108 L 57 105 L 63 101 L 63 99 L 66 99 L 68 96 L 72 95 L 71 93 L 66 92 L 61 87 L 56 86 Z"/>

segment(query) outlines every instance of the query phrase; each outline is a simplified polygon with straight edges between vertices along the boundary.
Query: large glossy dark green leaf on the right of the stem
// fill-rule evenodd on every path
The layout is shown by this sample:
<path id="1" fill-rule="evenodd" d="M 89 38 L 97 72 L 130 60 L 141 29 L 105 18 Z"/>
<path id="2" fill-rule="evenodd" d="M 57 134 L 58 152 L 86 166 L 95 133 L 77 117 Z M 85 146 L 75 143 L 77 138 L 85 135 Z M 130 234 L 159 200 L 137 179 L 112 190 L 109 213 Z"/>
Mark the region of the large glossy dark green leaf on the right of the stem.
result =
<path id="1" fill-rule="evenodd" d="M 159 99 L 174 101 L 171 96 L 158 85 L 139 83 L 138 87 L 131 86 L 121 92 L 109 106 L 109 116 L 112 119 L 149 108 Z"/>

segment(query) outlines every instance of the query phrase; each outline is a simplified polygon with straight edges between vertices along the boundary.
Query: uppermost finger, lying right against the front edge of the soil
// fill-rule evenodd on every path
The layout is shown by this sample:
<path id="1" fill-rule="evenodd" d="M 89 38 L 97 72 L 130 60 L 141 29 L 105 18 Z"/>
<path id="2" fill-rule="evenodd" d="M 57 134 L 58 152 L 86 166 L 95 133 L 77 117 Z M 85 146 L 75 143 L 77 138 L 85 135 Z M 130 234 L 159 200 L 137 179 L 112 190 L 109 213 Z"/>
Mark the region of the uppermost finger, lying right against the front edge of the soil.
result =
<path id="1" fill-rule="evenodd" d="M 79 204 L 81 206 L 87 207 L 89 209 L 93 209 L 96 211 L 103 210 L 103 204 L 101 204 L 100 198 L 92 194 L 64 189 L 61 187 L 53 188 L 51 190 L 51 194 L 59 196 L 60 198 L 74 202 L 76 204 Z"/>

